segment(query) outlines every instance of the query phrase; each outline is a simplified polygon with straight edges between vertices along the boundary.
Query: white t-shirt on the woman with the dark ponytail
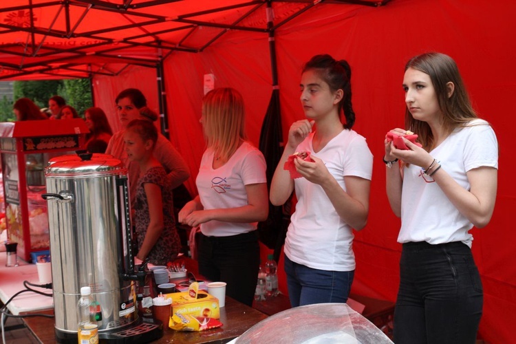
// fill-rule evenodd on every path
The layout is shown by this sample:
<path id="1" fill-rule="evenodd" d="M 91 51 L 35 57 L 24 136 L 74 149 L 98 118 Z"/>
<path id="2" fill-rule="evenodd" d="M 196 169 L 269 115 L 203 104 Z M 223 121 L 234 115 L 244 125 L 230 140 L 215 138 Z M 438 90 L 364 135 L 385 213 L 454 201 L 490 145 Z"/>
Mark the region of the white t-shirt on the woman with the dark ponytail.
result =
<path id="1" fill-rule="evenodd" d="M 343 130 L 314 153 L 313 133 L 296 151 L 310 151 L 323 160 L 326 168 L 344 191 L 344 176 L 354 175 L 371 180 L 373 155 L 365 138 L 352 130 Z M 329 271 L 352 271 L 355 257 L 352 228 L 338 216 L 323 188 L 305 178 L 294 180 L 297 196 L 285 242 L 285 254 L 298 264 Z"/>

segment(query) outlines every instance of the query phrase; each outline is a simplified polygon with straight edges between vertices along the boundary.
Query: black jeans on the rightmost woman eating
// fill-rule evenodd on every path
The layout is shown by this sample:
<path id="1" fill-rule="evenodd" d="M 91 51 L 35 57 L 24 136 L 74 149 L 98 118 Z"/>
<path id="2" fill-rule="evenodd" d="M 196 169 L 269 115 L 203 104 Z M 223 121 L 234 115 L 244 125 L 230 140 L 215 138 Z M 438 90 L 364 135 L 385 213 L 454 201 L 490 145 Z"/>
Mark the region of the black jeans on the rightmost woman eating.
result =
<path id="1" fill-rule="evenodd" d="M 394 343 L 475 343 L 482 282 L 462 242 L 403 244 Z"/>

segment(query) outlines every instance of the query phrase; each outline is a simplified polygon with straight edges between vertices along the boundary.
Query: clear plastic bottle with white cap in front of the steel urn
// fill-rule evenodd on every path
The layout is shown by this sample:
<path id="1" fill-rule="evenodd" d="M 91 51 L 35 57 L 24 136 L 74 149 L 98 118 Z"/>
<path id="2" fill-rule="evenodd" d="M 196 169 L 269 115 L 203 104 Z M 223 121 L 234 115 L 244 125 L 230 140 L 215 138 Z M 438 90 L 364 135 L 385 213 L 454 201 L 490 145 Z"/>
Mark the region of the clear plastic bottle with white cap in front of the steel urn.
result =
<path id="1" fill-rule="evenodd" d="M 98 344 L 98 323 L 95 315 L 96 305 L 92 289 L 80 288 L 80 299 L 77 303 L 78 344 Z"/>

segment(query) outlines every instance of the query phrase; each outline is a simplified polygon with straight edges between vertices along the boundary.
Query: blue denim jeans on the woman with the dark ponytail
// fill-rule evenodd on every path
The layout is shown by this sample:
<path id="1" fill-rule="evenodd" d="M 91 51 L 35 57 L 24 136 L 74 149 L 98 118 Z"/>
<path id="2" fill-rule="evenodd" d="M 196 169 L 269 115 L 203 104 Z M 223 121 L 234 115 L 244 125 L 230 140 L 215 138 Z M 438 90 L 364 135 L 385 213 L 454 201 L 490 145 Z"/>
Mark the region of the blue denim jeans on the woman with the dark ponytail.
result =
<path id="1" fill-rule="evenodd" d="M 353 283 L 353 271 L 327 271 L 294 263 L 285 256 L 290 305 L 345 303 Z"/>

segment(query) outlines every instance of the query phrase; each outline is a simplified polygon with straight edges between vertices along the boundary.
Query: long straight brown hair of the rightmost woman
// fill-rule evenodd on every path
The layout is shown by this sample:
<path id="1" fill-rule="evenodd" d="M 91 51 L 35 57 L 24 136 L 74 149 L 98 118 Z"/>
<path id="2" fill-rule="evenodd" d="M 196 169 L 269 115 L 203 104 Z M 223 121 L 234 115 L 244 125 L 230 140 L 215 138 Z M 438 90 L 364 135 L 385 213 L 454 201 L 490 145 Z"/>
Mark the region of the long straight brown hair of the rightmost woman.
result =
<path id="1" fill-rule="evenodd" d="M 405 72 L 409 68 L 430 76 L 442 112 L 442 125 L 447 133 L 451 133 L 458 127 L 464 127 L 473 118 L 477 118 L 453 58 L 446 54 L 429 52 L 411 58 L 405 65 Z M 448 96 L 447 83 L 449 82 L 454 85 L 451 96 Z M 433 148 L 430 126 L 427 122 L 415 120 L 408 108 L 405 109 L 405 128 L 418 134 L 418 140 L 424 149 L 429 151 Z"/>

